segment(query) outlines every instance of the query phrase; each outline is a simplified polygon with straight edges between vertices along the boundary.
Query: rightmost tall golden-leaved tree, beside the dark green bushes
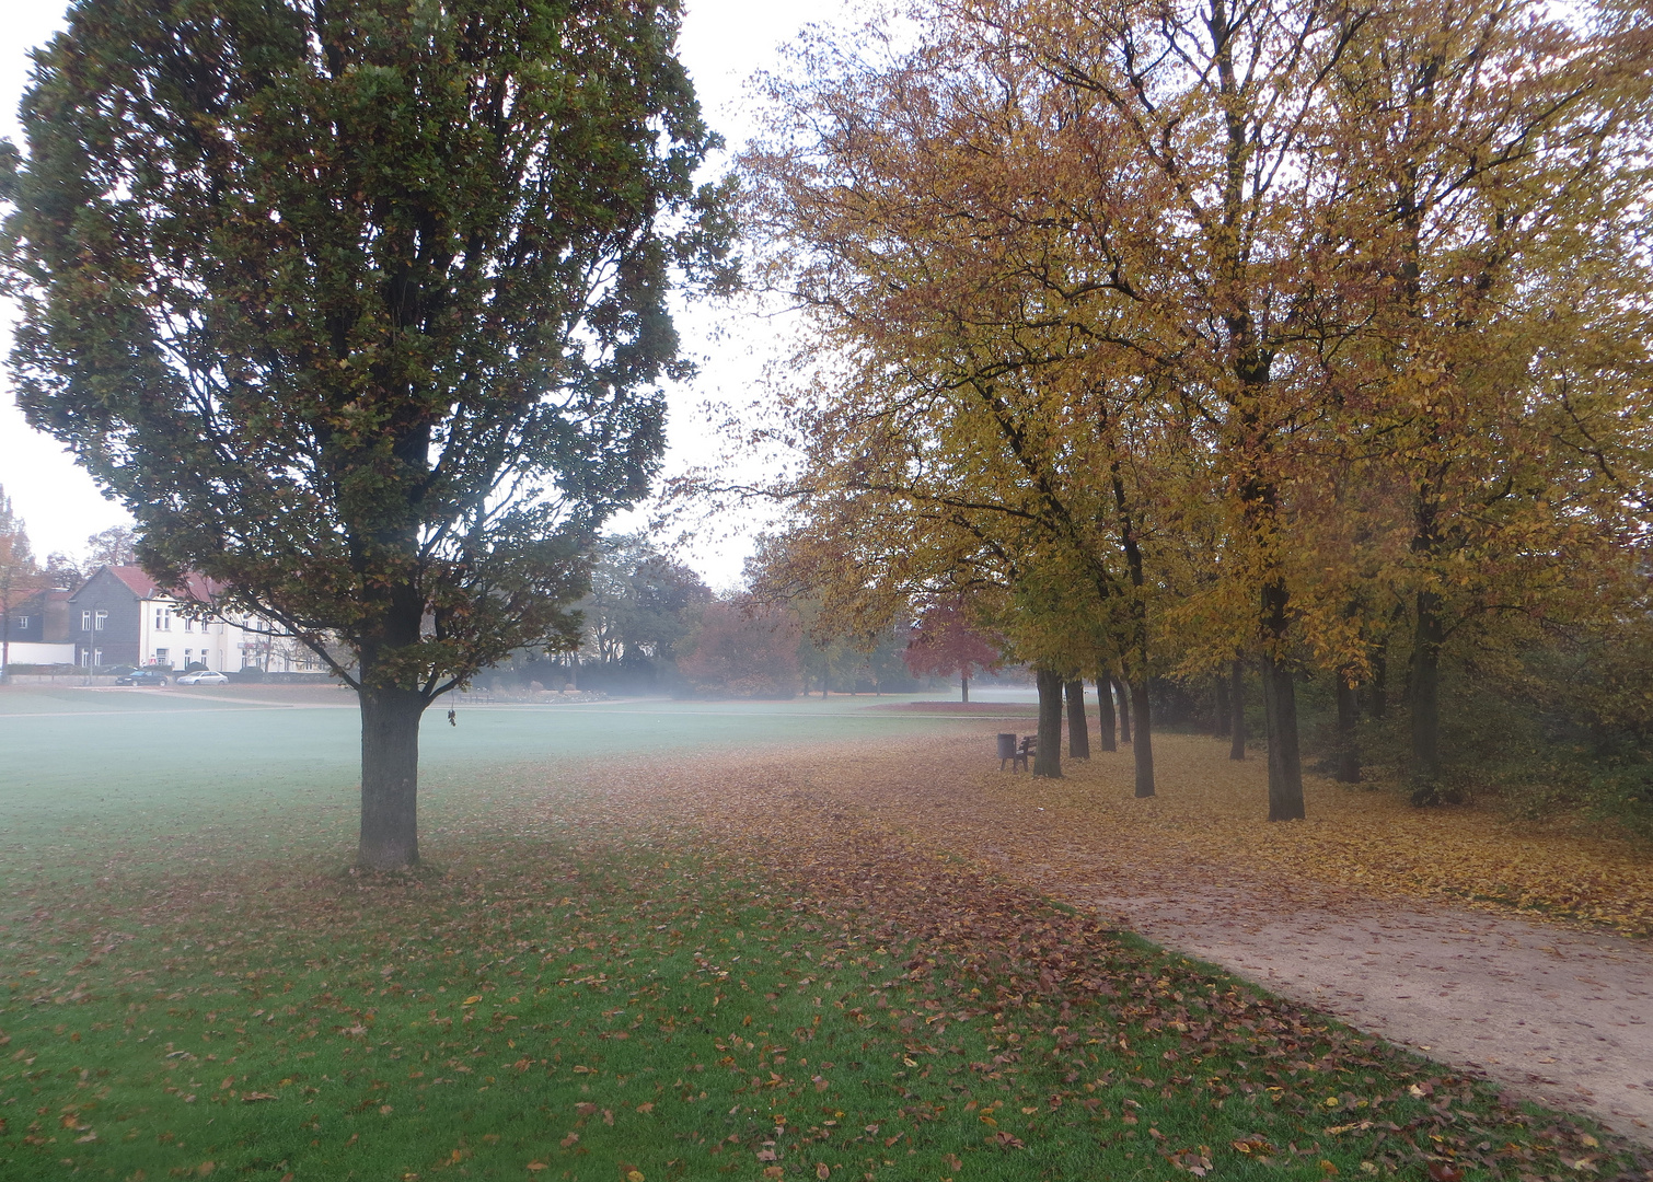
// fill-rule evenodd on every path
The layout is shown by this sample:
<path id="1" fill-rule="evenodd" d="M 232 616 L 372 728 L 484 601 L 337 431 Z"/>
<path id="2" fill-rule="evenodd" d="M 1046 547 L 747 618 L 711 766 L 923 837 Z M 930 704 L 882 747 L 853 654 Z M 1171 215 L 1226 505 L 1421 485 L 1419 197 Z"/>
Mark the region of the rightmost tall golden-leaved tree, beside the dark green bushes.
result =
<path id="1" fill-rule="evenodd" d="M 1610 612 L 1605 567 L 1641 529 L 1653 58 L 1645 31 L 1593 20 L 1374 12 L 1331 76 L 1339 217 L 1377 296 L 1332 380 L 1360 479 L 1398 493 L 1405 547 L 1379 579 L 1410 617 L 1420 800 L 1441 774 L 1448 646 Z"/>

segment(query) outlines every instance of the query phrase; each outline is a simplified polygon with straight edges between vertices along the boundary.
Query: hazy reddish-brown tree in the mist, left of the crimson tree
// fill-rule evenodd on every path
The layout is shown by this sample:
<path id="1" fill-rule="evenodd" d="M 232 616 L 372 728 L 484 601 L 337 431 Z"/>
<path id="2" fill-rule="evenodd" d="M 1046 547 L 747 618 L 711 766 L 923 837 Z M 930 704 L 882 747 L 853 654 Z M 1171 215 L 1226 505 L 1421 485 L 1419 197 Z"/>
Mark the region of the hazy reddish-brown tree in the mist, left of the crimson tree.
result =
<path id="1" fill-rule="evenodd" d="M 688 638 L 678 671 L 698 694 L 714 698 L 792 698 L 798 688 L 793 612 L 742 600 L 714 600 Z"/>

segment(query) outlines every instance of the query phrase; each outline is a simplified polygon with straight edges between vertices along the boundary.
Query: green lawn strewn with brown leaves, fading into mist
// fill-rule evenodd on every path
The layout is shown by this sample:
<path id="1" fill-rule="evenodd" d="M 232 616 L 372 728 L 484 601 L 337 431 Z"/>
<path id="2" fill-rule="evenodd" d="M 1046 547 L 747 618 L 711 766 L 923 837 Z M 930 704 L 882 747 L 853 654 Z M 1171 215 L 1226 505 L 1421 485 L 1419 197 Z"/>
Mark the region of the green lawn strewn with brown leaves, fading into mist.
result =
<path id="1" fill-rule="evenodd" d="M 111 726 L 157 717 L 174 721 Z M 610 713 L 593 746 L 668 751 L 656 717 Z M 707 713 L 741 724 L 701 742 L 689 717 L 678 741 L 703 752 L 798 726 L 779 708 Z M 195 709 L 179 721 L 198 726 Z M 314 727 L 306 760 L 263 787 L 188 765 L 129 777 L 124 817 L 149 818 L 136 838 L 38 802 L 28 841 L 0 848 L 0 1177 L 1633 1167 L 1587 1126 L 803 800 L 686 820 L 640 810 L 650 785 L 598 798 L 590 769 L 547 789 L 517 759 L 545 741 L 536 713 L 461 719 L 469 772 L 435 759 L 438 866 L 339 873 L 347 818 L 311 815 L 337 794 L 314 770 L 337 759 L 331 721 L 260 724 L 286 727 L 269 751 Z M 891 732 L 848 713 L 825 729 Z M 43 792 L 3 775 L 8 803 Z M 177 792 L 190 828 L 167 835 Z"/>

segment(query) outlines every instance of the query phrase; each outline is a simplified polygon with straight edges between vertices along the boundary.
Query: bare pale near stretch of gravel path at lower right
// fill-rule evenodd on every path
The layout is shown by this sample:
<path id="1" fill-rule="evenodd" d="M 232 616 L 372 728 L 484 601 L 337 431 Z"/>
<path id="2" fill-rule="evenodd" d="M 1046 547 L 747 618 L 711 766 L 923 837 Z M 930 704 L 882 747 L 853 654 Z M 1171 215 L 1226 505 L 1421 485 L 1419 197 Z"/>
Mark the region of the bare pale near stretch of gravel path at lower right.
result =
<path id="1" fill-rule="evenodd" d="M 1354 1027 L 1653 1144 L 1645 944 L 1453 908 L 1341 901 L 1281 914 L 1255 891 L 1200 879 L 1177 898 L 1078 889 L 1069 898 Z"/>

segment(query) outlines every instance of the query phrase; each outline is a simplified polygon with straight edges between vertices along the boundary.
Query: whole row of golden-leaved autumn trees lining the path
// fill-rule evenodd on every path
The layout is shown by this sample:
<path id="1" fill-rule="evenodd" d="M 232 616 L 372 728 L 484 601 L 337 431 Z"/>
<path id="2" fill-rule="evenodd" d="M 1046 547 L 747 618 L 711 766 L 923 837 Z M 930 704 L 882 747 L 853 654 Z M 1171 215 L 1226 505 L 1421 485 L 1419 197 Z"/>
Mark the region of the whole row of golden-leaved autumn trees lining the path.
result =
<path id="1" fill-rule="evenodd" d="M 1646 618 L 1633 8 L 962 0 L 906 31 L 807 45 L 742 157 L 815 375 L 775 435 L 803 474 L 759 489 L 795 511 L 770 595 L 850 630 L 962 597 L 1043 698 L 1122 678 L 1139 795 L 1150 679 L 1250 663 L 1271 818 L 1304 813 L 1306 670 L 1357 775 L 1359 691 L 1403 668 L 1428 800 L 1445 665 Z"/>

